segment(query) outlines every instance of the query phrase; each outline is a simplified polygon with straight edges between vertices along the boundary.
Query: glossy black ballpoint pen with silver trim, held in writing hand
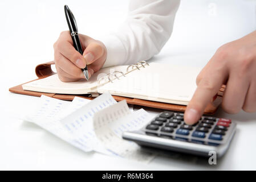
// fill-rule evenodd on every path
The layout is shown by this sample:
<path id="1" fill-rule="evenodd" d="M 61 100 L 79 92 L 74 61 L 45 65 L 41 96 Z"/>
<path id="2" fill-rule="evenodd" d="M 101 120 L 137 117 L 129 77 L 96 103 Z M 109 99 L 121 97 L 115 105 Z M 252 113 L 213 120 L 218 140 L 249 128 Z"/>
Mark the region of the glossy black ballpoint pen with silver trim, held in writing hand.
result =
<path id="1" fill-rule="evenodd" d="M 74 47 L 76 51 L 78 51 L 81 55 L 83 55 L 83 48 L 79 39 L 78 26 L 76 25 L 75 17 L 67 5 L 64 6 L 64 10 L 65 10 L 68 28 L 70 28 L 70 35 L 73 40 Z M 87 66 L 86 68 L 83 68 L 82 71 L 84 73 L 84 76 L 86 77 L 86 80 L 88 81 L 89 75 L 88 75 Z"/>

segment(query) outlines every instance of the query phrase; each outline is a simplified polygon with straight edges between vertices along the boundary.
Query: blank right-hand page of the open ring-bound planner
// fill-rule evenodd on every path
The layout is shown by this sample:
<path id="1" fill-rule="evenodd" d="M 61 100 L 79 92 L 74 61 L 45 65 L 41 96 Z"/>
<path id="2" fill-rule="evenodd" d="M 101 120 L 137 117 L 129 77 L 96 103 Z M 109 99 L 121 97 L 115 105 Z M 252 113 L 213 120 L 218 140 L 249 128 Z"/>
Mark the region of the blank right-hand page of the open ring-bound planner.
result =
<path id="1" fill-rule="evenodd" d="M 196 90 L 196 77 L 200 70 L 194 67 L 151 63 L 145 68 L 120 77 L 120 80 L 101 86 L 98 92 L 188 105 Z"/>

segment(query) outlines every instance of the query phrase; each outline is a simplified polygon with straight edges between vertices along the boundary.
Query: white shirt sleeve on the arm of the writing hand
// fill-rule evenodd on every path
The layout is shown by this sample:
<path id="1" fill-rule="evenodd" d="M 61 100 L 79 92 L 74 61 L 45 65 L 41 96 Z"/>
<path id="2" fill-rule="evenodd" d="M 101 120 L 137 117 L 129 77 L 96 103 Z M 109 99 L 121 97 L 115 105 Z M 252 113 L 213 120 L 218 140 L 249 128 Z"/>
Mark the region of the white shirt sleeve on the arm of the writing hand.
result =
<path id="1" fill-rule="evenodd" d="M 127 20 L 101 42 L 107 47 L 104 67 L 130 65 L 160 52 L 170 38 L 180 0 L 130 0 Z"/>

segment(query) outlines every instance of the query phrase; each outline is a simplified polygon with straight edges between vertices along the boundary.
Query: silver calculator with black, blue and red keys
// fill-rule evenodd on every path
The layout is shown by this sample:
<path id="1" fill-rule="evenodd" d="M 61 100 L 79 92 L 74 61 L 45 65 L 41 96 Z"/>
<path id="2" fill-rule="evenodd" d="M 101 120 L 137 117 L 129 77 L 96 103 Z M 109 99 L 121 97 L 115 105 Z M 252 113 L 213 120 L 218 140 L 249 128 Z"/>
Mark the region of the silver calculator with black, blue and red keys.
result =
<path id="1" fill-rule="evenodd" d="M 230 119 L 203 115 L 194 125 L 186 125 L 184 113 L 164 111 L 139 131 L 123 133 L 123 139 L 141 146 L 218 158 L 225 154 L 235 133 Z"/>

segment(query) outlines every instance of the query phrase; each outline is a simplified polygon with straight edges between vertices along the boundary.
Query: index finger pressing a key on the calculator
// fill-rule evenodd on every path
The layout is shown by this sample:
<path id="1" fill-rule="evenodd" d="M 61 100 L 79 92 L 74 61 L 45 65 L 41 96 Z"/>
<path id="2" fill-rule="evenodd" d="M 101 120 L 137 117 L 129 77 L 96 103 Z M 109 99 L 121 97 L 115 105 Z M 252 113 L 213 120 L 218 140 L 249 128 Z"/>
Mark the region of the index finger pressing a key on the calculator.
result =
<path id="1" fill-rule="evenodd" d="M 204 113 L 206 106 L 212 101 L 212 98 L 218 93 L 223 82 L 226 80 L 227 72 L 225 69 L 214 69 L 205 73 L 204 78 L 199 82 L 196 92 L 186 107 L 184 121 L 188 125 L 198 122 Z"/>

